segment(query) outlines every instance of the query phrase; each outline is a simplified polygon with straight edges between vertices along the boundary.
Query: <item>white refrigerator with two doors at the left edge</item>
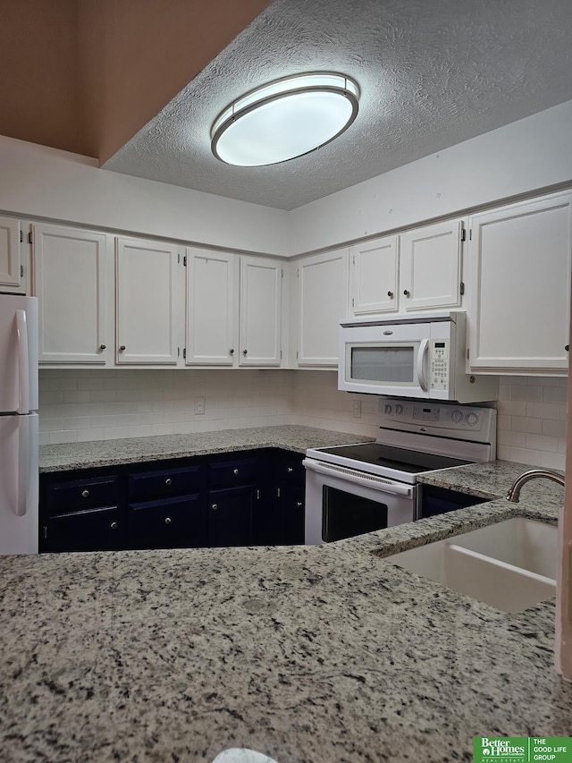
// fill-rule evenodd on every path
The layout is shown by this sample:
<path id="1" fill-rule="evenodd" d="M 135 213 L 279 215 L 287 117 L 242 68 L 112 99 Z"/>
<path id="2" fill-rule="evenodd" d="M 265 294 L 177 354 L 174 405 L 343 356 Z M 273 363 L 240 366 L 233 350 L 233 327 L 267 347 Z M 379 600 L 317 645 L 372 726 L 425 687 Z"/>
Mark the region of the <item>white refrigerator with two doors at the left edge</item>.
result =
<path id="1" fill-rule="evenodd" d="M 38 553 L 38 299 L 0 294 L 0 554 Z"/>

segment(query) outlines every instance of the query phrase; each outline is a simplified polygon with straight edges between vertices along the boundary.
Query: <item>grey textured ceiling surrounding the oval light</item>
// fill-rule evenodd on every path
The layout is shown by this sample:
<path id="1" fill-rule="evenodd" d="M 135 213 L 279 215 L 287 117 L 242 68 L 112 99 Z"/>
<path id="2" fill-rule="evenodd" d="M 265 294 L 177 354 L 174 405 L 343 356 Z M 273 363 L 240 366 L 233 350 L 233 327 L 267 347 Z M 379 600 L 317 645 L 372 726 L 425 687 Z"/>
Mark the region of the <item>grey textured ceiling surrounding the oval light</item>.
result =
<path id="1" fill-rule="evenodd" d="M 273 0 L 105 169 L 291 209 L 572 98 L 571 0 Z M 290 73 L 361 89 L 337 140 L 281 165 L 231 167 L 210 127 Z"/>

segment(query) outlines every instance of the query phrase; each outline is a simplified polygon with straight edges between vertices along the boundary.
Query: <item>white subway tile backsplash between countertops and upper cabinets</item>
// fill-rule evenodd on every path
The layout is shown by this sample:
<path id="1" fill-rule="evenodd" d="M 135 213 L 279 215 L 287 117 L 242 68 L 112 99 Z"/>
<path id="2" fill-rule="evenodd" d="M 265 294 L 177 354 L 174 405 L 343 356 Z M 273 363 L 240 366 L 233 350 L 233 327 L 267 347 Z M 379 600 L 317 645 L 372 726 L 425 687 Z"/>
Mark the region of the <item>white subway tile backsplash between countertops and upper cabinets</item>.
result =
<path id="1" fill-rule="evenodd" d="M 42 445 L 276 424 L 375 437 L 378 426 L 379 399 L 340 392 L 335 371 L 40 369 L 39 380 Z M 501 377 L 499 458 L 564 469 L 567 383 Z"/>

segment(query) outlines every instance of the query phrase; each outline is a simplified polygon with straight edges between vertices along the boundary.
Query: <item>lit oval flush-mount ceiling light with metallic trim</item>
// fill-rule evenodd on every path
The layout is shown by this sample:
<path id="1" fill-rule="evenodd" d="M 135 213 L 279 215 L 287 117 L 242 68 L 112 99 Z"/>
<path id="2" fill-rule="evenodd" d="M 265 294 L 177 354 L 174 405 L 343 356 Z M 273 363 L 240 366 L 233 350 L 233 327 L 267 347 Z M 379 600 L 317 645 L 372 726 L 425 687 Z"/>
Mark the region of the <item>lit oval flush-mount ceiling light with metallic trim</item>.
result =
<path id="1" fill-rule="evenodd" d="M 211 130 L 214 156 L 228 165 L 276 165 L 321 148 L 348 129 L 359 89 L 344 74 L 276 80 L 227 106 Z"/>

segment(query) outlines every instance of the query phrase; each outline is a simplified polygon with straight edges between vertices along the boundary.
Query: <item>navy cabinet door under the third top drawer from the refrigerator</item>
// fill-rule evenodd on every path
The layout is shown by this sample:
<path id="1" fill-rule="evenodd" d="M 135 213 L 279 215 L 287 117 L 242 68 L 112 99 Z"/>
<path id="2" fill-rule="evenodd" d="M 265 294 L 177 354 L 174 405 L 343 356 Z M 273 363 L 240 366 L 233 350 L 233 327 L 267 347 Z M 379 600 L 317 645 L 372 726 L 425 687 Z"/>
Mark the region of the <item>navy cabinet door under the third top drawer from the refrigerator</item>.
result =
<path id="1" fill-rule="evenodd" d="M 206 545 L 252 546 L 252 520 L 258 495 L 255 485 L 209 490 L 206 501 Z"/>

